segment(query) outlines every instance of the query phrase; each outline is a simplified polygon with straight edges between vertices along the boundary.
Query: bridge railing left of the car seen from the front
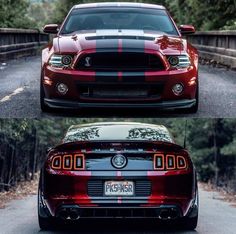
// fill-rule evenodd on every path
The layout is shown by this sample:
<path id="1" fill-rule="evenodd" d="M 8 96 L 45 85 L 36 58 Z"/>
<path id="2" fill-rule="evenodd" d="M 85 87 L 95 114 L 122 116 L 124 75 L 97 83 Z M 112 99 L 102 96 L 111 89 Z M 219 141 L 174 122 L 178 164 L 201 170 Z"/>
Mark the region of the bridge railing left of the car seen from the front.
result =
<path id="1" fill-rule="evenodd" d="M 0 61 L 34 55 L 48 41 L 49 35 L 39 30 L 0 28 Z"/>

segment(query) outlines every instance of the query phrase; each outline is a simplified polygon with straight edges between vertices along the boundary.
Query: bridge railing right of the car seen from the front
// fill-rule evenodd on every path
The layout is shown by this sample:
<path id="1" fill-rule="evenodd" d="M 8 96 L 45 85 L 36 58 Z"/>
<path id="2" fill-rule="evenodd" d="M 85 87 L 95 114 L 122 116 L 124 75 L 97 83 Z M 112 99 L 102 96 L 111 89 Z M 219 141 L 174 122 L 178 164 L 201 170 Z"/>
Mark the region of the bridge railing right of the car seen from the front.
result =
<path id="1" fill-rule="evenodd" d="M 198 48 L 201 58 L 236 69 L 236 31 L 196 32 L 188 40 Z"/>

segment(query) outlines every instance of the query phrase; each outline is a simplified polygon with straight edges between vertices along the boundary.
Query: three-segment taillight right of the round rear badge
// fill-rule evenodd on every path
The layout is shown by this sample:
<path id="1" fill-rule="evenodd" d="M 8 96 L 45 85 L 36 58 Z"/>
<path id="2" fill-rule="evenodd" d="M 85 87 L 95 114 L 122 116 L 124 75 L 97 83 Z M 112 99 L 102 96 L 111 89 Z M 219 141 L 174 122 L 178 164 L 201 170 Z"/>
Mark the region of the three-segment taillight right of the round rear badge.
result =
<path id="1" fill-rule="evenodd" d="M 154 170 L 184 170 L 187 168 L 187 161 L 184 156 L 174 154 L 155 154 Z"/>

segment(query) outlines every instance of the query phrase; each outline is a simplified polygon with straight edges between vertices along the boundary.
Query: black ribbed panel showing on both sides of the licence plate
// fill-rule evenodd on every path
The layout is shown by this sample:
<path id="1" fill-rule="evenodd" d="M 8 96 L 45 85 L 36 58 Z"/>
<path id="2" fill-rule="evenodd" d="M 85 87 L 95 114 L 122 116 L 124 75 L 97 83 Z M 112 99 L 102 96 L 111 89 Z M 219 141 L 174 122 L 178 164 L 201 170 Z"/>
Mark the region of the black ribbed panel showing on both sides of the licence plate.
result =
<path id="1" fill-rule="evenodd" d="M 137 180 L 135 182 L 135 194 L 136 197 L 147 197 L 151 195 L 151 181 L 149 180 Z M 88 195 L 90 197 L 102 197 L 104 196 L 104 181 L 102 180 L 90 180 L 88 182 Z"/>

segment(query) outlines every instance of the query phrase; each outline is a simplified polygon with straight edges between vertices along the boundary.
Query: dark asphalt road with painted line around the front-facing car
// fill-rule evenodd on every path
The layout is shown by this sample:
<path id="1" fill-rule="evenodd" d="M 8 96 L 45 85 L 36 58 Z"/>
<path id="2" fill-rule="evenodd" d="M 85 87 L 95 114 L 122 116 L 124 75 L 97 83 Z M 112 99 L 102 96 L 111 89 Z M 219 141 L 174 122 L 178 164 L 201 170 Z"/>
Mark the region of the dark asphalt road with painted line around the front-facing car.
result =
<path id="1" fill-rule="evenodd" d="M 156 110 L 83 110 L 42 114 L 39 106 L 40 57 L 0 64 L 0 118 L 77 117 L 236 117 L 236 72 L 200 66 L 200 108 L 197 114 Z"/>

